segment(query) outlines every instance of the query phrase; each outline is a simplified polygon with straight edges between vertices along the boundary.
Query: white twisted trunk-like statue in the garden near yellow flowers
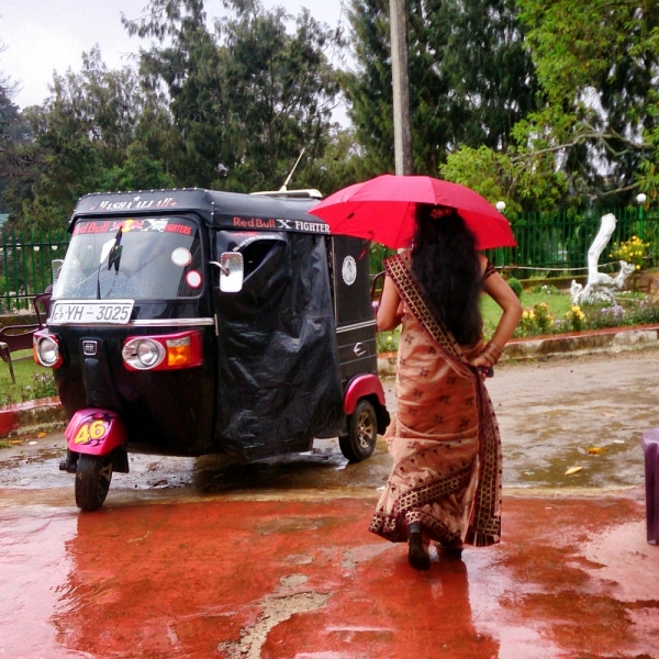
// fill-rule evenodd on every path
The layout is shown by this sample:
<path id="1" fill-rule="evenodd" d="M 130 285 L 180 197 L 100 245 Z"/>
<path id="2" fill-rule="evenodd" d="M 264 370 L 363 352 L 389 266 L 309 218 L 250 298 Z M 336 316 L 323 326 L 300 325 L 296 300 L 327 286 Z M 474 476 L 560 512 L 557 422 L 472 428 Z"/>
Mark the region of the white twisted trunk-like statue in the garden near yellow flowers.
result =
<path id="1" fill-rule="evenodd" d="M 602 217 L 600 231 L 588 250 L 588 281 L 585 287 L 572 280 L 570 288 L 572 304 L 595 304 L 597 302 L 615 304 L 615 291 L 623 290 L 625 279 L 634 272 L 634 265 L 626 261 L 621 261 L 621 270 L 615 277 L 597 272 L 600 255 L 608 244 L 615 230 L 615 224 L 616 220 L 613 213 L 608 213 Z"/>

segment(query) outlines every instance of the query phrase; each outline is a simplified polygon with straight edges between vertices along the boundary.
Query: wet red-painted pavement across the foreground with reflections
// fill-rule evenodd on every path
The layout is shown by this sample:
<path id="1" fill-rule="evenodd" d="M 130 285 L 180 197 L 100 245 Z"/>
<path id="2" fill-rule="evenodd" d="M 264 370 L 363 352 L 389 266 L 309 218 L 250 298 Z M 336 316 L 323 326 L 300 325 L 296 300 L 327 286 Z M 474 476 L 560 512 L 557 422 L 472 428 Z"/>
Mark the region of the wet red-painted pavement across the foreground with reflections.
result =
<path id="1" fill-rule="evenodd" d="M 634 496 L 504 500 L 504 541 L 406 565 L 375 500 L 10 505 L 0 657 L 648 658 L 659 548 Z"/>

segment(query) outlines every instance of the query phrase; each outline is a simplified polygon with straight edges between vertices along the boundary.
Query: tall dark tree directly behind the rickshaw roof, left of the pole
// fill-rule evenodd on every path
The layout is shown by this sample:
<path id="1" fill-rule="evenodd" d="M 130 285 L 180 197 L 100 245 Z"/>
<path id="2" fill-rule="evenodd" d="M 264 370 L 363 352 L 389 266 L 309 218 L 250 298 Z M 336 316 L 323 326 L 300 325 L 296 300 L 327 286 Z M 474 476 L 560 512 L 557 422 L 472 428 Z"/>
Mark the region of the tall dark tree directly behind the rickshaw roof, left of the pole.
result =
<path id="1" fill-rule="evenodd" d="M 227 8 L 213 33 L 201 0 L 152 0 L 147 18 L 123 22 L 157 42 L 141 52 L 141 72 L 170 98 L 179 185 L 279 187 L 302 147 L 312 159 L 323 153 L 338 92 L 324 51 L 338 37 L 305 10 L 289 34 L 281 8 L 244 0 Z"/>

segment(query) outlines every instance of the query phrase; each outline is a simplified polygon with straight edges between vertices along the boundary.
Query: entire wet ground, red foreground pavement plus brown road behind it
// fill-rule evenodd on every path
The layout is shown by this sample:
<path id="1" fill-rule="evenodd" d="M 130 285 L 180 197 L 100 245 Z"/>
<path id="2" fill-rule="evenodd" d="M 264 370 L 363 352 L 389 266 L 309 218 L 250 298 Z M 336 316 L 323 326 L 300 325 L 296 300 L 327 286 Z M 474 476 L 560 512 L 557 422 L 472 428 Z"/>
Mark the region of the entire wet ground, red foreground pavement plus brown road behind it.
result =
<path id="1" fill-rule="evenodd" d="M 504 539 L 423 574 L 366 530 L 382 446 L 360 465 L 335 440 L 243 467 L 132 456 L 90 514 L 62 436 L 1 449 L 0 657 L 659 656 L 639 447 L 658 367 L 649 350 L 498 369 Z"/>

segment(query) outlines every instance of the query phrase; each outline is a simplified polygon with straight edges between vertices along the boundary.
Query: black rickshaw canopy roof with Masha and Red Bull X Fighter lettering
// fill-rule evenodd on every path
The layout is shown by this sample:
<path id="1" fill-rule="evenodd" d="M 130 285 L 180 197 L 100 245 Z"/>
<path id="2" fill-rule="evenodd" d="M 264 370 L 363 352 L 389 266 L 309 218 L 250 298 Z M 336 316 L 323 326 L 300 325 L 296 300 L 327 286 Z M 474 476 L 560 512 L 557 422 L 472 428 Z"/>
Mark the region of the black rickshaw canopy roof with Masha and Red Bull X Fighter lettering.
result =
<path id="1" fill-rule="evenodd" d="M 206 225 L 216 228 L 330 233 L 327 224 L 308 214 L 317 203 L 317 199 L 253 196 L 203 188 L 94 192 L 78 200 L 69 228 L 81 216 L 193 212 Z"/>

